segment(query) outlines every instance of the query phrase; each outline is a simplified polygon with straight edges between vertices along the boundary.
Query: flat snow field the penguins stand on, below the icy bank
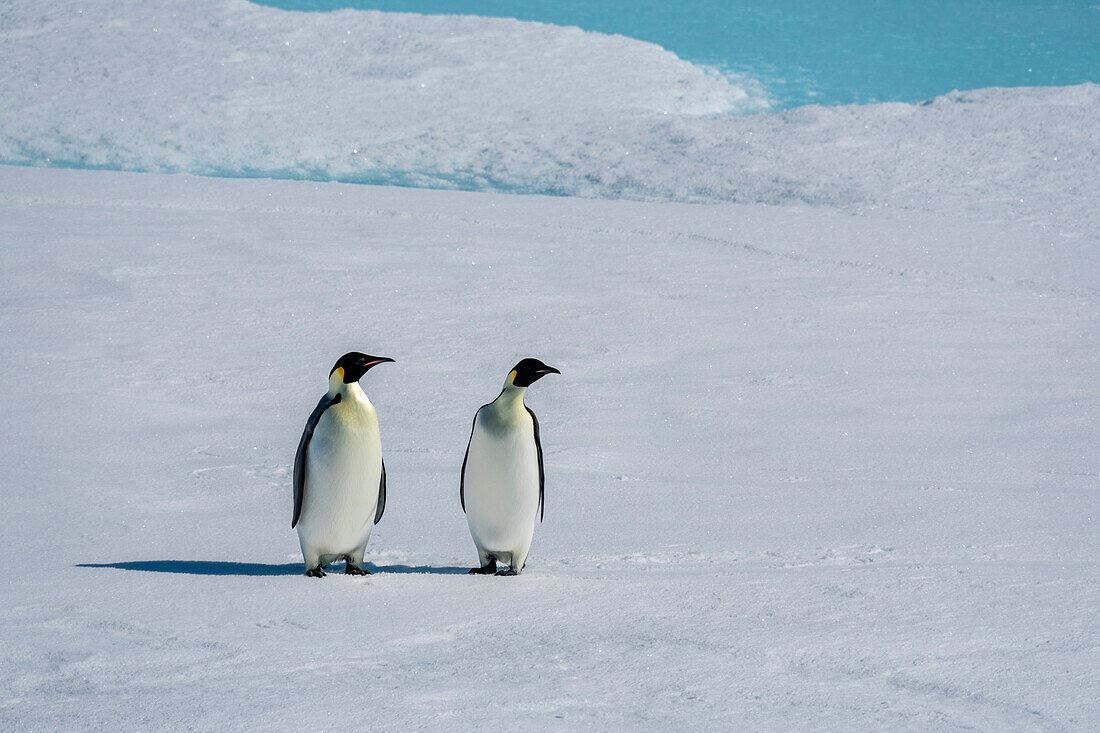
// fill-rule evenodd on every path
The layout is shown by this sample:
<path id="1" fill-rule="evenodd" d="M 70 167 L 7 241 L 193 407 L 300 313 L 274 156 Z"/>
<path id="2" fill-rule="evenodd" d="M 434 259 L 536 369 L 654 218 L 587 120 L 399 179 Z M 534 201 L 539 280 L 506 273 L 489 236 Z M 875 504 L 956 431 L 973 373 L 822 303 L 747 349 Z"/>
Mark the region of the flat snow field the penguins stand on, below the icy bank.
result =
<path id="1" fill-rule="evenodd" d="M 4 730 L 1100 726 L 1096 240 L 0 166 L 0 241 Z M 314 580 L 351 348 L 389 502 Z M 528 354 L 546 522 L 469 577 Z"/>

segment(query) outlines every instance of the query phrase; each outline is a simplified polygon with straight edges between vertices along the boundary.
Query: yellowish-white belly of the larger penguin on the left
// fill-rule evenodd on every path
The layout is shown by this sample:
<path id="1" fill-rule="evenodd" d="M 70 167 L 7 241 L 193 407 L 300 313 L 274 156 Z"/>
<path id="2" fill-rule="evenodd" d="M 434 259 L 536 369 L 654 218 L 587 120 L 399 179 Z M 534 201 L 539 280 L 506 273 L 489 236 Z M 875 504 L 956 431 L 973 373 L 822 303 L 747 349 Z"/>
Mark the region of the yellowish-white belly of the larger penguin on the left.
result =
<path id="1" fill-rule="evenodd" d="M 373 409 L 334 405 L 314 431 L 298 522 L 309 555 L 336 556 L 327 558 L 332 561 L 366 547 L 382 479 L 382 440 L 372 417 Z"/>

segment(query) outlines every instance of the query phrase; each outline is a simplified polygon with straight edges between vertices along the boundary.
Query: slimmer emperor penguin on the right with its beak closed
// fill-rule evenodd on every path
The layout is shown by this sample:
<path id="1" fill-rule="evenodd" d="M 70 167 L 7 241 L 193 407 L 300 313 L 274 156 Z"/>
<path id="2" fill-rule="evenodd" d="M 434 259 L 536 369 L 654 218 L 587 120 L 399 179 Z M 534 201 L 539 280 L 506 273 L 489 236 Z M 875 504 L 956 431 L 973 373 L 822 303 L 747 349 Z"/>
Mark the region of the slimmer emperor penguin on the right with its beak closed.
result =
<path id="1" fill-rule="evenodd" d="M 535 516 L 544 513 L 539 420 L 524 404 L 527 387 L 561 374 L 538 359 L 524 359 L 504 381 L 496 400 L 474 414 L 462 459 L 459 501 L 477 546 L 480 567 L 470 572 L 516 576 L 527 562 Z M 508 569 L 497 572 L 497 561 Z"/>

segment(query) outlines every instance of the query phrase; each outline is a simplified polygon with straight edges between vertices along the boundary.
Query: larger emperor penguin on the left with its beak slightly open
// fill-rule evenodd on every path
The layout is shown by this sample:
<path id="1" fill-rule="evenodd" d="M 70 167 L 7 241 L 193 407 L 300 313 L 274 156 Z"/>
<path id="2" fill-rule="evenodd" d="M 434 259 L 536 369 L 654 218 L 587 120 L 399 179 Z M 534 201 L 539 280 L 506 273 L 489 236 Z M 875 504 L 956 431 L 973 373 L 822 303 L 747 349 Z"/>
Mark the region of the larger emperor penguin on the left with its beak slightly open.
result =
<path id="1" fill-rule="evenodd" d="M 359 380 L 388 357 L 350 351 L 329 372 L 294 457 L 294 519 L 306 575 L 323 578 L 343 559 L 350 576 L 370 575 L 363 554 L 386 508 L 386 464 L 374 405 Z"/>

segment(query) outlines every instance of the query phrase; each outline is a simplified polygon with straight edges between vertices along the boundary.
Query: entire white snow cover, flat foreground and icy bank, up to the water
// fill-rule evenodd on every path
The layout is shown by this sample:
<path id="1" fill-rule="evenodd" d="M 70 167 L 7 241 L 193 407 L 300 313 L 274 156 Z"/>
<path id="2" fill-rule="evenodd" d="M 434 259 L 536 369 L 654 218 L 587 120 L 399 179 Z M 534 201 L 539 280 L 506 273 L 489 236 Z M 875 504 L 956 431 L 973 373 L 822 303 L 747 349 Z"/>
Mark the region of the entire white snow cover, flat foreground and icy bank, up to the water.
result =
<path id="1" fill-rule="evenodd" d="M 766 95 L 578 29 L 0 21 L 0 730 L 1100 730 L 1100 87 L 716 114 Z M 388 503 L 316 580 L 352 349 Z M 466 576 L 528 355 L 546 521 Z"/>

